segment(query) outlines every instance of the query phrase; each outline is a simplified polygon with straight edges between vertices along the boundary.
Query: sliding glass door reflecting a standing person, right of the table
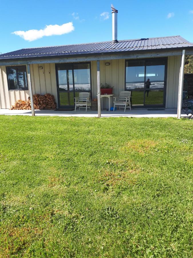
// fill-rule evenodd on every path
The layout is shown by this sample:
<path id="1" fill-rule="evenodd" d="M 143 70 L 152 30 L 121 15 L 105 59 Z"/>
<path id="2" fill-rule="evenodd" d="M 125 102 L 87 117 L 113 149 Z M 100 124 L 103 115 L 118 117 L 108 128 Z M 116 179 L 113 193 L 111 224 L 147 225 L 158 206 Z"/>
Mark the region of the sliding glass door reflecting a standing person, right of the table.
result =
<path id="1" fill-rule="evenodd" d="M 166 58 L 126 60 L 126 90 L 132 91 L 132 106 L 164 107 Z"/>

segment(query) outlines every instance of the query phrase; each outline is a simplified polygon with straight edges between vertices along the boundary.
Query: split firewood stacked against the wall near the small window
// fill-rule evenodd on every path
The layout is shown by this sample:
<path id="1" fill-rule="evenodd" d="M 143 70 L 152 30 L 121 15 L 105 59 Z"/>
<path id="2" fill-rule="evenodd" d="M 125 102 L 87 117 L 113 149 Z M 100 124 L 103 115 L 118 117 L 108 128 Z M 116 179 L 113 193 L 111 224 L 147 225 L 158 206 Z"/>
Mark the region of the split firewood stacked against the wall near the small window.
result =
<path id="1" fill-rule="evenodd" d="M 55 109 L 56 103 L 53 95 L 47 93 L 45 95 L 35 94 L 33 95 L 33 103 L 35 109 Z M 30 110 L 31 101 L 28 97 L 27 101 L 17 100 L 15 105 L 11 106 L 11 110 Z"/>

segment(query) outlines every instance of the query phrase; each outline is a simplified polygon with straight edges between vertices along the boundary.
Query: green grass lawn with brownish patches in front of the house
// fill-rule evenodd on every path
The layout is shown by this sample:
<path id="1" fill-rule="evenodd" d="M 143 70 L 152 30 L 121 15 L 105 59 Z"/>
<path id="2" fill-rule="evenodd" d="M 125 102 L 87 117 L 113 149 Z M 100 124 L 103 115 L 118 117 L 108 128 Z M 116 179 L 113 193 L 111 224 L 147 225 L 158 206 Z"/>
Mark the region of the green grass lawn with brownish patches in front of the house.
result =
<path id="1" fill-rule="evenodd" d="M 0 124 L 0 257 L 192 257 L 191 120 Z"/>

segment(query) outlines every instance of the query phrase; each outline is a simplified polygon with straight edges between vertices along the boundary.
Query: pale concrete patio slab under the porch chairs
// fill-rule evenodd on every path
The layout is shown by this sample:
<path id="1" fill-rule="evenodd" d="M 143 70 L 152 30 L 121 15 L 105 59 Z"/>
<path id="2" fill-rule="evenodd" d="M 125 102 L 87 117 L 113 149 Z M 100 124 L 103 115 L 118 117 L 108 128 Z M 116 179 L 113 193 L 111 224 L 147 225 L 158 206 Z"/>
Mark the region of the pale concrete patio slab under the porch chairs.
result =
<path id="1" fill-rule="evenodd" d="M 31 116 L 31 110 L 9 110 L 0 109 L 0 115 L 23 115 Z M 55 111 L 55 110 L 35 110 L 36 116 L 77 116 L 77 117 L 98 117 L 97 111 L 84 109 L 75 111 Z M 126 110 L 116 110 L 116 111 L 101 111 L 102 117 L 177 117 L 177 108 L 167 108 L 165 110 L 148 110 L 148 109 L 132 109 Z M 182 117 L 187 117 L 187 115 L 182 111 Z"/>

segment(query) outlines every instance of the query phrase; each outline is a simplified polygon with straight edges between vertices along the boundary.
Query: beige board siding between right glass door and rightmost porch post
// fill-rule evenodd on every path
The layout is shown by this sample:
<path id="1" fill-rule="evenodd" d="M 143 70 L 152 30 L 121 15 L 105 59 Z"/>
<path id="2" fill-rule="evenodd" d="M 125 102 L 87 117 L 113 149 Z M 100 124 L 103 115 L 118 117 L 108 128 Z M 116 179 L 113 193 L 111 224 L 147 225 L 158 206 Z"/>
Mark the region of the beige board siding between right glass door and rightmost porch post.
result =
<path id="1" fill-rule="evenodd" d="M 177 108 L 181 56 L 168 57 L 166 108 Z"/>

